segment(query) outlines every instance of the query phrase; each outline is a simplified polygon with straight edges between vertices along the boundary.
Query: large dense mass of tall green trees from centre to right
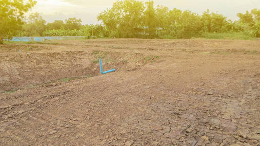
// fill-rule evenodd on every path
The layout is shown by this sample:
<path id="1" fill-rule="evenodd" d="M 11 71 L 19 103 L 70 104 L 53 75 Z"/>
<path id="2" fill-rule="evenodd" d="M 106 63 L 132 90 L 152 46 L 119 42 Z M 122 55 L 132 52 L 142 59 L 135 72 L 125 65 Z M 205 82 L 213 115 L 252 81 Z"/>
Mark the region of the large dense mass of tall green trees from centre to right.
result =
<path id="1" fill-rule="evenodd" d="M 208 9 L 200 16 L 191 11 L 176 8 L 169 10 L 160 5 L 154 8 L 153 1 L 121 0 L 115 2 L 111 9 L 101 12 L 98 20 L 106 28 L 109 37 L 174 39 L 211 36 L 205 33 L 234 34 L 232 32 L 241 31 L 249 37 L 253 25 L 247 22 L 251 22 L 251 17 L 252 20 L 258 18 L 260 14 L 258 9 L 253 9 L 251 13 L 238 14 L 241 20 L 233 22 Z M 221 36 L 225 35 L 219 35 Z M 241 35 L 238 36 L 240 37 Z"/>

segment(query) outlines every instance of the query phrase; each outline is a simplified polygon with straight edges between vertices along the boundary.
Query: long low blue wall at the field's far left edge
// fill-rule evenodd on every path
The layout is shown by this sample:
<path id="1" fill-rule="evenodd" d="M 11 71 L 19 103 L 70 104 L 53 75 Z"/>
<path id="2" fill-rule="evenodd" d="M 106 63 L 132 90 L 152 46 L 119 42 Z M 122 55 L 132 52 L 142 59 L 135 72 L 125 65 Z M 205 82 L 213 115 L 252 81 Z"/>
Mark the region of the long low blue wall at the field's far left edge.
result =
<path id="1" fill-rule="evenodd" d="M 84 36 L 67 36 L 67 37 L 13 37 L 8 41 L 44 41 L 44 40 L 62 40 L 62 39 L 79 39 Z M 6 40 L 6 39 L 4 39 Z"/>

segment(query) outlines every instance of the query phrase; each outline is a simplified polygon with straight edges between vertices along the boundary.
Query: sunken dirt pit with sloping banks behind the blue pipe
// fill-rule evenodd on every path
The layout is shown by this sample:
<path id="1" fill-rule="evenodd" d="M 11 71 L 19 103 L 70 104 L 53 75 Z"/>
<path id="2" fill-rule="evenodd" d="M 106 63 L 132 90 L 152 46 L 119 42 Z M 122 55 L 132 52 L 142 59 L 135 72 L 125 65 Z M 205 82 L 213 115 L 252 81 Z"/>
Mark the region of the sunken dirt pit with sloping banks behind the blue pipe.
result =
<path id="1" fill-rule="evenodd" d="M 55 47 L 55 46 L 54 46 Z M 65 46 L 70 47 L 70 46 Z M 0 91 L 19 90 L 57 80 L 95 76 L 104 70 L 130 71 L 156 61 L 154 56 L 111 51 L 50 51 L 46 45 L 5 45 L 0 54 Z M 20 51 L 20 52 L 19 52 Z M 50 52 L 49 52 L 50 51 Z"/>

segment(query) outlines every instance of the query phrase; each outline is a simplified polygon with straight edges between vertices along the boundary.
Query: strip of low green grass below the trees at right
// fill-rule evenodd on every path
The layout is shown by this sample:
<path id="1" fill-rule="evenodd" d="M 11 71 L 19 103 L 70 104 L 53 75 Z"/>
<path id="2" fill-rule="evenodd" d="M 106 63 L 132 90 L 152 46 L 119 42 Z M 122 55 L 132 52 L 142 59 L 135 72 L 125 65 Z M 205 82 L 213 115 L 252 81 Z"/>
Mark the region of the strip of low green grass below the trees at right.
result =
<path id="1" fill-rule="evenodd" d="M 204 33 L 202 38 L 206 39 L 252 39 L 252 37 L 242 33 L 242 32 L 231 32 L 231 33 Z"/>

